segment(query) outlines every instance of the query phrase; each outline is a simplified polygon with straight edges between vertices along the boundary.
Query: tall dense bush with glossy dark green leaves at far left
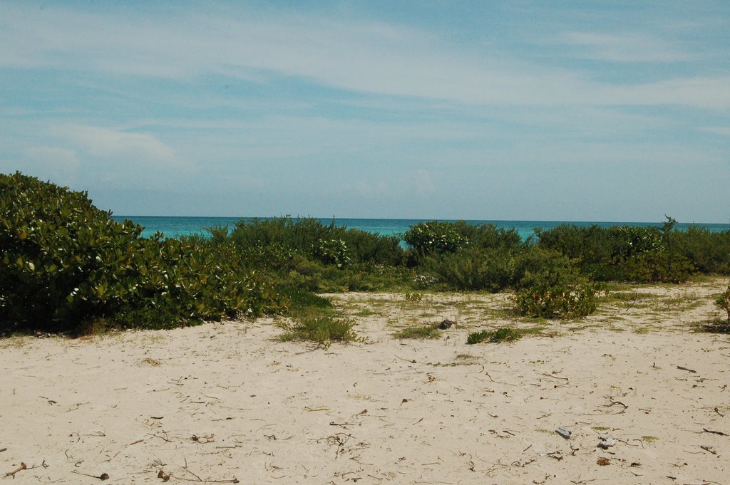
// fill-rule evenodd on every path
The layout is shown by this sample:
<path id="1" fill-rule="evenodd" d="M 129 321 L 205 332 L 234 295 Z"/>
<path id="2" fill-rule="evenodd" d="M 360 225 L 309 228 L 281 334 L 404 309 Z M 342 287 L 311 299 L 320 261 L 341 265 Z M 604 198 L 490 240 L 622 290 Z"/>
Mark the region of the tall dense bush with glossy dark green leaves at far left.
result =
<path id="1" fill-rule="evenodd" d="M 1 330 L 78 330 L 99 318 L 182 325 L 280 308 L 272 285 L 242 268 L 234 252 L 140 238 L 142 228 L 110 215 L 85 192 L 0 174 Z"/>

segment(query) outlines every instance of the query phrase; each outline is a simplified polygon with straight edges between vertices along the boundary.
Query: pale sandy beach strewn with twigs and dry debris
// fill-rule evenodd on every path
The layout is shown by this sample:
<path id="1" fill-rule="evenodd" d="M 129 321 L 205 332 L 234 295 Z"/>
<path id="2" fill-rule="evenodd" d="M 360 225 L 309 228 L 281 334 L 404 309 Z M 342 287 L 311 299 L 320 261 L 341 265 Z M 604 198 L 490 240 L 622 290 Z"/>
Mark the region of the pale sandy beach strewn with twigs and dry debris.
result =
<path id="1" fill-rule="evenodd" d="M 332 295 L 368 343 L 328 349 L 277 341 L 272 319 L 8 338 L 0 477 L 728 484 L 730 335 L 696 332 L 720 317 L 723 285 L 641 287 L 586 319 L 547 323 L 510 319 L 504 294 Z M 457 325 L 439 339 L 392 337 L 446 318 Z M 505 325 L 543 331 L 466 345 Z"/>

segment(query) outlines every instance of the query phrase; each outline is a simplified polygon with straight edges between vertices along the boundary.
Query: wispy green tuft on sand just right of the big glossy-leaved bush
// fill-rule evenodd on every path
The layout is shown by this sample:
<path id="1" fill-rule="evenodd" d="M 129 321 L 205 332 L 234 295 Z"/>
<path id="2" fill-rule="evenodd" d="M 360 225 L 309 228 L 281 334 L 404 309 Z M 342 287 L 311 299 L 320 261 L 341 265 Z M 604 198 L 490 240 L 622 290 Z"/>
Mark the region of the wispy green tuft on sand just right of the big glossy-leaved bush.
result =
<path id="1" fill-rule="evenodd" d="M 365 338 L 358 337 L 353 330 L 354 320 L 333 317 L 329 314 L 305 314 L 293 323 L 281 322 L 279 326 L 284 329 L 283 335 L 280 336 L 282 341 L 313 341 L 325 349 L 328 349 L 334 341 L 344 344 L 366 341 Z"/>

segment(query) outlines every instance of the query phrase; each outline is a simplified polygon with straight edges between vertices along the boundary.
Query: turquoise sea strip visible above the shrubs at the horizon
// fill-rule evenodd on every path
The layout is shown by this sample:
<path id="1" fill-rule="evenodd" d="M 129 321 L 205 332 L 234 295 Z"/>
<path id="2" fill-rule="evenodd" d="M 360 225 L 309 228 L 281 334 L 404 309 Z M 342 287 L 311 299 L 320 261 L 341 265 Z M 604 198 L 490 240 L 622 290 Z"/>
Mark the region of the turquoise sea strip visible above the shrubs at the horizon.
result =
<path id="1" fill-rule="evenodd" d="M 233 229 L 239 220 L 253 220 L 253 217 L 164 217 L 164 216 L 112 216 L 119 222 L 129 219 L 145 228 L 142 236 L 149 237 L 156 232 L 164 233 L 166 237 L 190 236 L 201 234 L 208 236 L 207 228 L 215 226 L 228 226 Z M 266 219 L 261 217 L 261 219 Z M 332 222 L 331 219 L 320 219 L 324 224 Z M 426 222 L 428 219 L 336 219 L 336 225 L 342 225 L 351 229 L 366 230 L 369 233 L 377 233 L 382 236 L 401 236 L 410 226 L 418 222 Z M 537 220 L 467 220 L 472 224 L 493 224 L 497 228 L 516 229 L 523 239 L 529 238 L 536 228 L 550 229 L 561 224 L 571 224 L 583 227 L 598 225 L 602 228 L 610 228 L 613 225 L 630 225 L 636 227 L 661 226 L 661 222 L 605 222 L 605 221 L 537 221 Z M 691 223 L 680 222 L 678 229 L 686 229 Z M 707 228 L 712 232 L 730 230 L 730 224 L 696 224 L 699 227 Z"/>

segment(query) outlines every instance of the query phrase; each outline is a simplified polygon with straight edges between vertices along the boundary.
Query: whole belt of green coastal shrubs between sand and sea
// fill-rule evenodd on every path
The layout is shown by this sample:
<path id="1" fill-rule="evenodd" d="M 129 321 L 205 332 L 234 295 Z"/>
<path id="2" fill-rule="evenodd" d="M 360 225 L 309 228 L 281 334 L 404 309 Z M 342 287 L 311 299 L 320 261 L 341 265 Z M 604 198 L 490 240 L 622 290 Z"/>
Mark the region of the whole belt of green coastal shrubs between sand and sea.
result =
<path id="1" fill-rule="evenodd" d="M 0 332 L 280 314 L 299 322 L 285 335 L 323 344 L 356 338 L 316 295 L 342 291 L 387 290 L 418 303 L 427 291 L 512 290 L 513 309 L 526 317 L 583 317 L 604 282 L 730 274 L 730 230 L 675 226 L 670 217 L 650 228 L 561 225 L 523 241 L 516 230 L 433 221 L 413 225 L 401 247 L 399 237 L 334 220 L 277 217 L 209 228 L 210 237 L 142 238 L 84 192 L 0 174 Z M 718 305 L 730 319 L 729 292 Z"/>

